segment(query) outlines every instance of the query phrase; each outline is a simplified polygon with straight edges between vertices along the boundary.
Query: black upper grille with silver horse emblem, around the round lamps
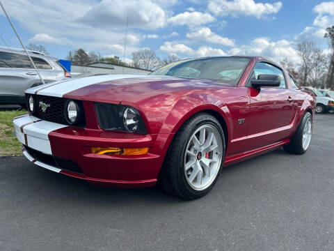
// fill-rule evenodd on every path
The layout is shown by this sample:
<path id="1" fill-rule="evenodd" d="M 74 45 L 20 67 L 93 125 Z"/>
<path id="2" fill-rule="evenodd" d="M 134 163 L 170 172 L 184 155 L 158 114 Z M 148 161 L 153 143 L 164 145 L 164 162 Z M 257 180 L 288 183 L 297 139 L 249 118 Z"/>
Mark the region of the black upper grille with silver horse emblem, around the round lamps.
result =
<path id="1" fill-rule="evenodd" d="M 57 98 L 42 95 L 33 95 L 33 98 L 35 99 L 35 112 L 33 112 L 33 116 L 45 121 L 51 121 L 63 125 L 70 125 L 65 119 L 65 102 L 67 101 L 66 98 Z M 40 102 L 43 102 L 47 105 L 47 109 L 45 109 L 44 112 L 42 110 L 42 106 L 40 106 Z M 79 105 L 80 110 L 84 111 L 82 102 L 80 100 L 75 100 L 75 102 L 77 102 L 77 104 Z M 86 126 L 86 118 L 84 116 L 84 112 L 81 112 L 79 116 L 82 116 L 82 118 L 79 119 L 80 123 L 75 126 Z"/>

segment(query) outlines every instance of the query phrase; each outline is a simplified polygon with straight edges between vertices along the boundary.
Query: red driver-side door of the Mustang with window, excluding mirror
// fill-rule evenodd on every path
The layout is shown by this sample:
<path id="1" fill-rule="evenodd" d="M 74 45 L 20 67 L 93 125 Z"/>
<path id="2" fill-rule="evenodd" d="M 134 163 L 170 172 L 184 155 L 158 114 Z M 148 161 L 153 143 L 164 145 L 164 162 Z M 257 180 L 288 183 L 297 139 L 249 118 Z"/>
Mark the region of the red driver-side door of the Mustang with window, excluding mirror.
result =
<path id="1" fill-rule="evenodd" d="M 255 88 L 248 79 L 250 96 L 250 116 L 248 123 L 248 149 L 256 149 L 285 139 L 289 136 L 296 104 L 292 91 L 288 89 L 283 70 L 267 61 L 258 62 L 253 68 L 251 78 L 260 74 L 280 76 L 278 87 Z"/>

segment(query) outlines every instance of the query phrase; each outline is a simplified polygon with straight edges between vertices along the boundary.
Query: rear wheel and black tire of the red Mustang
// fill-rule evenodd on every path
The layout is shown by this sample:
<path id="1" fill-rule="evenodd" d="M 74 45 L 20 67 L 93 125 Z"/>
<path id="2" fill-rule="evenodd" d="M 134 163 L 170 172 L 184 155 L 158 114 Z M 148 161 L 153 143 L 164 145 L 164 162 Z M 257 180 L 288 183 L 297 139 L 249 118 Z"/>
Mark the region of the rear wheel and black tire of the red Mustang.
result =
<path id="1" fill-rule="evenodd" d="M 308 150 L 310 146 L 310 140 L 312 136 L 313 122 L 312 114 L 306 112 L 299 123 L 299 126 L 294 132 L 294 136 L 291 139 L 290 144 L 284 146 L 284 150 L 288 153 L 303 154 Z"/>

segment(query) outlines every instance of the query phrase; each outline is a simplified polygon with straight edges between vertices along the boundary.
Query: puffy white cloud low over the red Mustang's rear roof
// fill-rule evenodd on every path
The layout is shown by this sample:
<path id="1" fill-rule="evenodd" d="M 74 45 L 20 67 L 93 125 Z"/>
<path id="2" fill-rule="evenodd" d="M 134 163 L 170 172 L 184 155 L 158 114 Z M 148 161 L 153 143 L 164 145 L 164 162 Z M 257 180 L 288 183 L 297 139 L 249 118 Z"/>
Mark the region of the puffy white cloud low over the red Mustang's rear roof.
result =
<path id="1" fill-rule="evenodd" d="M 294 43 L 287 40 L 273 42 L 268 38 L 255 38 L 249 45 L 241 45 L 232 48 L 230 55 L 267 56 L 277 62 L 287 58 L 299 63 L 300 57 L 294 49 Z"/>

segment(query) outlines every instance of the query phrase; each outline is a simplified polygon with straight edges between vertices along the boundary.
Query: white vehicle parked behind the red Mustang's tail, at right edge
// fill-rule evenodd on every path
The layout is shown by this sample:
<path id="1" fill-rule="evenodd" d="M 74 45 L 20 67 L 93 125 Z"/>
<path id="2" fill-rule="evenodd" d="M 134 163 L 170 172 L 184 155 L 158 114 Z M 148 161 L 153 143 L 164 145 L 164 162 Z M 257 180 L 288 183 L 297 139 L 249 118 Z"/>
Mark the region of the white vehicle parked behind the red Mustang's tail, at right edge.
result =
<path id="1" fill-rule="evenodd" d="M 315 107 L 315 112 L 317 112 L 318 114 L 324 114 L 326 112 L 334 111 L 334 98 L 328 98 L 318 89 L 308 86 L 301 86 L 301 91 L 311 93 L 312 95 L 315 96 L 317 100 L 317 106 Z"/>

